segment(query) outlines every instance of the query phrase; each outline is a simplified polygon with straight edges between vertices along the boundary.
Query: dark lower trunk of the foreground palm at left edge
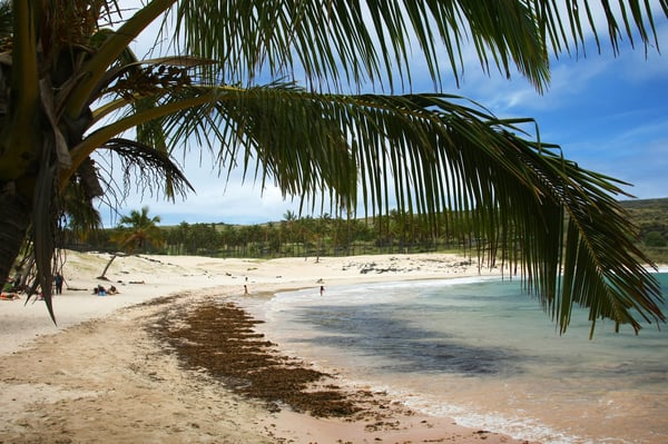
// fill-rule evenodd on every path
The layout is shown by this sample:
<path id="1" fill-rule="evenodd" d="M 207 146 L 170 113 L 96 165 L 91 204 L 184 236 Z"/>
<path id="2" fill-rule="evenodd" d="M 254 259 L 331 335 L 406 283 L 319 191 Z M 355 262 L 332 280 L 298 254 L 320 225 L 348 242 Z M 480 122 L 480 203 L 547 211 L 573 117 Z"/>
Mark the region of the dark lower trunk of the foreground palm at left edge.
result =
<path id="1" fill-rule="evenodd" d="M 19 256 L 30 220 L 31 205 L 13 190 L 0 191 L 0 283 L 6 283 Z"/>

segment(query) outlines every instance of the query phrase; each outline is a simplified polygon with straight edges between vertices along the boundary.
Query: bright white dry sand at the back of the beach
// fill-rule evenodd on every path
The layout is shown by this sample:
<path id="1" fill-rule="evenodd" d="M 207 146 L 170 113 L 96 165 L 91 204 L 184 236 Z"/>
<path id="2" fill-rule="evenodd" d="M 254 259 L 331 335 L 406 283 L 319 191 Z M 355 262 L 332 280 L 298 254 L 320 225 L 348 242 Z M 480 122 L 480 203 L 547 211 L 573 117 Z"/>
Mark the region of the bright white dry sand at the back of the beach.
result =
<path id="1" fill-rule="evenodd" d="M 303 288 L 354 282 L 443 278 L 478 275 L 477 264 L 455 255 L 354 256 L 316 258 L 215 259 L 197 256 L 119 256 L 107 272 L 107 282 L 97 279 L 110 259 L 107 254 L 69 251 L 63 267 L 61 296 L 53 297 L 57 325 L 49 319 L 43 302 L 24 295 L 19 300 L 0 300 L 0 355 L 18 349 L 37 336 L 58 333 L 91 318 L 101 318 L 118 308 L 183 290 L 236 288 L 249 293 L 272 287 Z M 369 269 L 369 273 L 361 273 Z M 379 273 L 383 269 L 393 272 Z M 483 272 L 487 273 L 487 272 Z M 114 296 L 95 296 L 98 285 L 119 290 Z"/>

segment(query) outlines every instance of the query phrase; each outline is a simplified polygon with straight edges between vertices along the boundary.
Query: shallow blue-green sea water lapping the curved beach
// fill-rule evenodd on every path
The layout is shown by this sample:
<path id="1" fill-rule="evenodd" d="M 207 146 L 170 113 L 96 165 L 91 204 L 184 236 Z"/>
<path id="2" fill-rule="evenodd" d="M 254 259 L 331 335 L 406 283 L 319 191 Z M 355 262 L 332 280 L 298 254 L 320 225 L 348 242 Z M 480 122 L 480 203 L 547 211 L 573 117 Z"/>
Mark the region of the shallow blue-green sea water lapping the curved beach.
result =
<path id="1" fill-rule="evenodd" d="M 668 274 L 656 275 L 664 294 Z M 461 425 L 542 443 L 668 443 L 668 325 L 566 334 L 519 280 L 328 286 L 261 307 L 269 338 L 323 369 Z M 664 306 L 668 313 L 668 306 Z"/>

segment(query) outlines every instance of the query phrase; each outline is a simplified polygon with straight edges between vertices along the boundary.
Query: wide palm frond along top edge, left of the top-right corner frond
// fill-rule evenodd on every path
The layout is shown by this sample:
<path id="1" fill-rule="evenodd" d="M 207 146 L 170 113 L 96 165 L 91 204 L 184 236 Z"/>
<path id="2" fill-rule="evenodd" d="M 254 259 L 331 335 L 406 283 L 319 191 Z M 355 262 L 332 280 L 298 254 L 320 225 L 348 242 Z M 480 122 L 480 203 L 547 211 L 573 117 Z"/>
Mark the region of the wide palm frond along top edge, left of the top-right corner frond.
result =
<path id="1" fill-rule="evenodd" d="M 485 69 L 490 61 L 504 72 L 515 65 L 537 86 L 548 76 L 540 29 L 518 1 L 181 1 L 173 14 L 165 24 L 175 22 L 184 51 L 222 61 L 233 82 L 265 68 L 273 77 L 303 69 L 316 85 L 371 80 L 392 88 L 394 76 L 410 79 L 412 58 L 421 55 L 440 86 L 446 62 L 459 80 L 469 38 Z M 168 26 L 163 31 L 171 33 Z"/>

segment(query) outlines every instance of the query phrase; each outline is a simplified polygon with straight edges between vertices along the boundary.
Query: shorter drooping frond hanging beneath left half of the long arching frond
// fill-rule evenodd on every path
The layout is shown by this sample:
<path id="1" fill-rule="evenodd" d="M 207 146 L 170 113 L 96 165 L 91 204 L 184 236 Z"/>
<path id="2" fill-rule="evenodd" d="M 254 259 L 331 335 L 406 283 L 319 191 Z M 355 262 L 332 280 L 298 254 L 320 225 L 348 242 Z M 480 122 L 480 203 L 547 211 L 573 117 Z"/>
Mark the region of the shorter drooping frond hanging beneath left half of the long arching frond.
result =
<path id="1" fill-rule="evenodd" d="M 173 145 L 190 140 L 208 148 L 219 172 L 240 166 L 263 188 L 275 182 L 284 196 L 307 199 L 334 189 L 341 198 L 337 206 L 352 206 L 356 166 L 340 122 L 323 114 L 322 103 L 311 105 L 302 89 L 275 82 L 250 89 L 191 87 L 173 92 L 160 99 L 157 109 L 208 98 L 161 119 Z"/>

